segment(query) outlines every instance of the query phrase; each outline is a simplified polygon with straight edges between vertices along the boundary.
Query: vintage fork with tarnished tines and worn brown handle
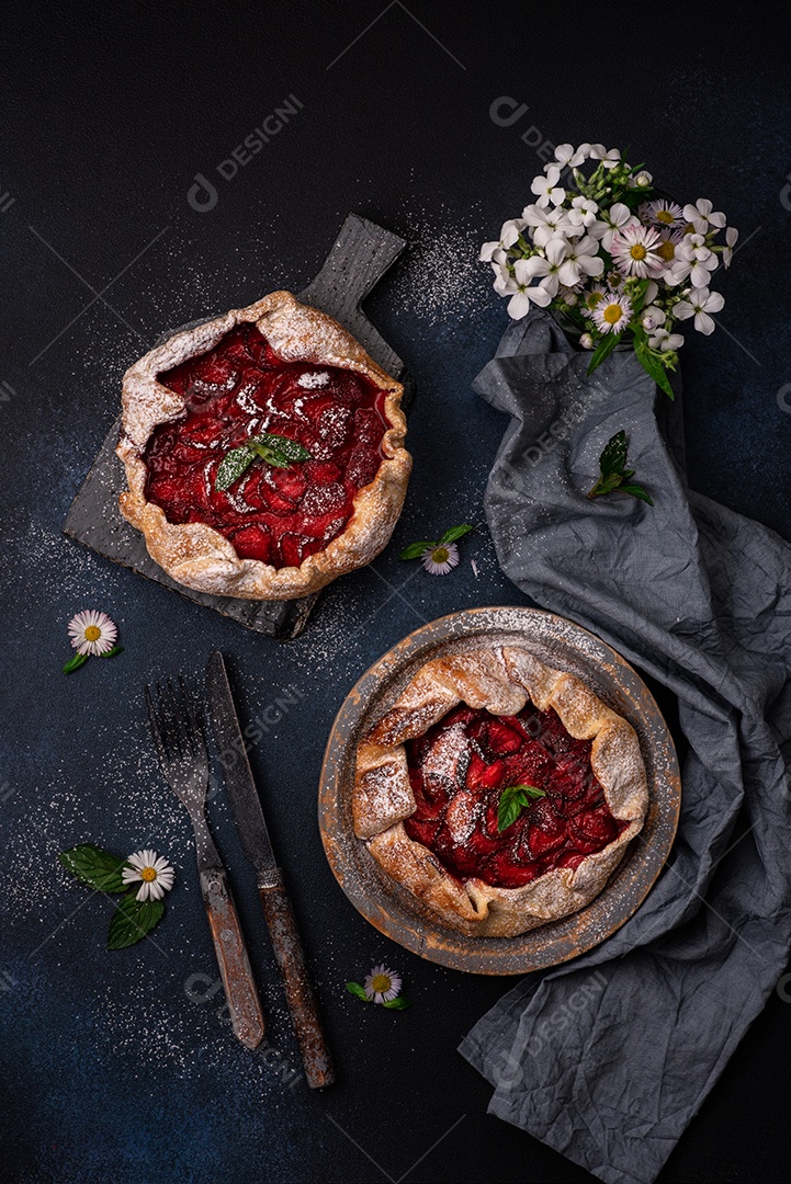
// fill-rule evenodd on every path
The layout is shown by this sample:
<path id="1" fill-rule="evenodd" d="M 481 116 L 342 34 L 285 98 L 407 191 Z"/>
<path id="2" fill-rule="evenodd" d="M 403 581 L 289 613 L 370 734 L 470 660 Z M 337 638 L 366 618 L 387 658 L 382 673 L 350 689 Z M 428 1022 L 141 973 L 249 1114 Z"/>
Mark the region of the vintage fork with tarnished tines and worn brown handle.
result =
<path id="1" fill-rule="evenodd" d="M 146 687 L 148 719 L 165 779 L 186 806 L 195 834 L 198 873 L 214 952 L 234 1034 L 247 1048 L 264 1037 L 264 1017 L 223 861 L 204 812 L 208 754 L 195 706 L 179 675 L 179 688 Z"/>

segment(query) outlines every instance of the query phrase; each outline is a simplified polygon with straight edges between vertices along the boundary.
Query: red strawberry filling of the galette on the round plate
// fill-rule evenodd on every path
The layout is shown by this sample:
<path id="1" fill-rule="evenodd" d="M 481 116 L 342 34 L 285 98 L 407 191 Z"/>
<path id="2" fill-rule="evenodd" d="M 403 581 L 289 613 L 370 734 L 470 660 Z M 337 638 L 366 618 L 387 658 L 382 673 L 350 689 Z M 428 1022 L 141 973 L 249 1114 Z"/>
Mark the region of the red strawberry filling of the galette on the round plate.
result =
<path id="1" fill-rule="evenodd" d="M 417 802 L 406 832 L 459 879 L 500 888 L 575 868 L 629 825 L 612 816 L 591 744 L 574 740 L 552 708 L 528 704 L 502 716 L 457 707 L 406 745 Z M 533 785 L 546 797 L 501 832 L 500 796 L 509 785 Z"/>

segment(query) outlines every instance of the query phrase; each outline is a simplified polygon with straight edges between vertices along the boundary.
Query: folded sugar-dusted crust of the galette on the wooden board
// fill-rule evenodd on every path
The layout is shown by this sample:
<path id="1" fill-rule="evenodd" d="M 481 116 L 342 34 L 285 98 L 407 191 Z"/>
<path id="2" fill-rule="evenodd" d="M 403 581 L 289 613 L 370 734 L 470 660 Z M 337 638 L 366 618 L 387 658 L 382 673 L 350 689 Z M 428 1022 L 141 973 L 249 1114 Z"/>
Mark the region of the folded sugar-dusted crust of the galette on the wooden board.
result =
<path id="1" fill-rule="evenodd" d="M 364 374 L 386 391 L 384 459 L 374 480 L 360 489 L 345 530 L 324 551 L 298 567 L 275 568 L 258 559 L 240 559 L 233 545 L 202 522 L 175 525 L 146 500 L 146 444 L 159 424 L 184 414 L 181 395 L 156 375 L 212 349 L 236 324 L 253 322 L 275 352 L 288 361 L 339 366 Z M 116 449 L 129 489 L 121 494 L 121 513 L 146 536 L 148 552 L 179 584 L 216 596 L 246 600 L 284 600 L 317 592 L 337 575 L 371 562 L 387 545 L 401 511 L 412 458 L 404 448 L 406 419 L 400 407 L 404 388 L 377 366 L 336 321 L 278 291 L 194 329 L 176 333 L 131 366 L 123 379 L 121 438 Z"/>

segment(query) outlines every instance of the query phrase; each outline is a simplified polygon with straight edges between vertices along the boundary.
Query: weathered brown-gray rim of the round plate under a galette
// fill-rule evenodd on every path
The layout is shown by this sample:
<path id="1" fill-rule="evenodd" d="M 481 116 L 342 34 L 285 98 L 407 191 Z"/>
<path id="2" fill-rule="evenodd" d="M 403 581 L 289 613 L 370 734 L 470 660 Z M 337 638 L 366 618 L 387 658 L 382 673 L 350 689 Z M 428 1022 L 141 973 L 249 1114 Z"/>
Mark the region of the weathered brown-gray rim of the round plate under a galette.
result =
<path id="1" fill-rule="evenodd" d="M 349 867 L 349 861 L 346 861 L 342 857 L 340 844 L 335 842 L 334 830 L 332 826 L 333 818 L 337 818 L 337 824 L 342 829 L 339 810 L 339 794 L 342 790 L 341 783 L 343 779 L 345 762 L 348 761 L 349 747 L 352 745 L 356 745 L 358 731 L 355 726 L 358 726 L 359 721 L 364 718 L 371 701 L 375 701 L 373 696 L 371 699 L 366 699 L 364 693 L 365 684 L 372 678 L 381 681 L 382 676 L 386 676 L 390 682 L 396 681 L 399 676 L 399 670 L 403 670 L 411 662 L 416 661 L 416 658 L 419 657 L 419 651 L 423 646 L 431 648 L 432 645 L 436 646 L 442 645 L 443 643 L 452 642 L 456 638 L 463 639 L 464 636 L 476 636 L 474 628 L 464 626 L 472 626 L 476 618 L 487 613 L 517 613 L 519 616 L 527 618 L 539 618 L 545 626 L 552 623 L 555 628 L 560 626 L 562 630 L 571 630 L 572 636 L 583 635 L 591 638 L 597 646 L 603 648 L 605 652 L 612 656 L 613 665 L 628 673 L 629 678 L 636 684 L 636 688 L 639 690 L 642 708 L 647 712 L 647 719 L 652 721 L 655 725 L 658 725 L 661 728 L 663 747 L 661 747 L 657 741 L 656 747 L 652 749 L 652 755 L 656 755 L 656 753 L 664 755 L 664 776 L 660 776 L 662 762 L 656 761 L 654 762 L 655 776 L 651 781 L 651 787 L 654 789 L 656 789 L 656 785 L 660 783 L 662 783 L 664 787 L 664 797 L 661 800 L 658 796 L 652 799 L 657 807 L 655 830 L 658 830 L 658 839 L 661 842 L 658 843 L 658 851 L 655 850 L 652 852 L 651 874 L 642 884 L 639 884 L 636 889 L 632 889 L 631 893 L 628 893 L 624 900 L 624 907 L 618 912 L 617 922 L 611 925 L 606 932 L 591 940 L 585 939 L 578 947 L 571 950 L 567 948 L 555 958 L 547 958 L 545 954 L 540 954 L 539 957 L 534 955 L 530 959 L 526 954 L 525 964 L 519 966 L 510 964 L 513 950 L 515 948 L 513 945 L 514 942 L 527 942 L 529 946 L 529 940 L 533 934 L 541 933 L 541 931 L 545 931 L 546 933 L 546 929 L 549 926 L 558 927 L 562 926 L 564 922 L 584 922 L 586 914 L 590 916 L 590 910 L 596 908 L 597 902 L 599 909 L 603 907 L 602 899 L 607 893 L 607 889 L 617 883 L 631 862 L 629 849 L 626 858 L 618 864 L 618 868 L 613 871 L 613 875 L 607 882 L 605 889 L 603 889 L 603 892 L 599 893 L 584 908 L 579 909 L 574 914 L 571 914 L 570 918 L 560 919 L 555 922 L 548 922 L 548 926 L 538 926 L 535 929 L 528 931 L 525 934 L 519 934 L 515 938 L 508 939 L 467 937 L 448 929 L 446 933 L 449 934 L 452 945 L 461 946 L 461 950 L 446 950 L 442 945 L 426 941 L 425 932 L 420 934 L 410 929 L 398 916 L 392 915 L 387 907 L 382 907 L 373 901 L 366 894 L 365 889 L 360 890 L 358 883 L 359 876 L 354 875 L 354 868 Z M 452 625 L 455 624 L 462 624 L 459 633 L 454 633 Z M 516 631 L 514 625 L 502 625 L 501 631 L 507 631 L 508 628 Z M 490 626 L 490 629 L 491 631 L 495 631 L 496 626 Z M 439 631 L 439 637 L 435 636 L 437 631 Z M 481 630 L 481 632 L 484 631 L 485 630 L 483 629 Z M 381 669 L 382 667 L 385 668 L 384 670 Z M 348 735 L 343 738 L 341 735 L 341 731 L 347 715 L 349 716 L 352 726 L 348 729 Z M 645 757 L 645 753 L 643 753 L 643 755 Z M 650 807 L 651 803 L 649 803 L 649 810 Z M 645 901 L 667 863 L 677 832 L 680 810 L 681 773 L 675 742 L 667 720 L 664 719 L 656 700 L 654 699 L 654 695 L 641 675 L 632 667 L 632 664 L 623 657 L 623 655 L 609 644 L 609 642 L 605 642 L 602 637 L 593 633 L 584 625 L 579 625 L 577 622 L 571 620 L 568 617 L 562 617 L 560 613 L 555 613 L 546 609 L 533 609 L 529 605 L 480 605 L 470 609 L 459 609 L 451 613 L 445 613 L 442 617 L 437 617 L 435 620 L 426 622 L 424 625 L 412 630 L 410 633 L 405 635 L 391 645 L 356 678 L 353 687 L 343 696 L 343 701 L 333 720 L 324 747 L 319 784 L 319 831 L 324 855 L 339 887 L 360 915 L 385 937 L 429 961 L 465 973 L 487 976 L 525 974 L 534 970 L 545 970 L 561 965 L 562 963 L 577 958 L 589 950 L 600 945 L 604 940 L 606 940 L 606 938 L 611 937 L 619 928 L 622 928 L 622 926 L 625 925 L 631 916 L 634 916 L 641 905 Z M 355 842 L 360 842 L 359 839 L 355 839 L 353 831 L 351 831 L 351 835 Z M 637 838 L 639 838 L 639 836 L 636 836 L 632 842 L 636 842 Z M 631 851 L 634 858 L 634 847 L 631 848 Z M 371 858 L 372 864 L 374 864 L 374 861 L 369 855 L 368 858 Z M 384 875 L 384 873 L 381 873 L 381 875 Z M 401 889 L 398 884 L 393 883 L 393 896 L 398 897 L 399 895 L 403 896 L 401 903 L 407 906 L 406 912 L 409 913 L 409 895 L 406 895 L 404 889 Z M 399 910 L 403 912 L 400 906 Z M 427 927 L 425 919 L 420 918 L 417 912 L 414 913 L 414 924 L 423 931 Z M 435 927 L 440 927 L 438 921 L 435 922 Z M 494 941 L 510 944 L 512 952 L 506 952 L 503 955 L 499 955 L 496 952 L 488 952 L 490 947 L 484 944 Z M 508 965 L 504 965 L 507 961 Z"/>

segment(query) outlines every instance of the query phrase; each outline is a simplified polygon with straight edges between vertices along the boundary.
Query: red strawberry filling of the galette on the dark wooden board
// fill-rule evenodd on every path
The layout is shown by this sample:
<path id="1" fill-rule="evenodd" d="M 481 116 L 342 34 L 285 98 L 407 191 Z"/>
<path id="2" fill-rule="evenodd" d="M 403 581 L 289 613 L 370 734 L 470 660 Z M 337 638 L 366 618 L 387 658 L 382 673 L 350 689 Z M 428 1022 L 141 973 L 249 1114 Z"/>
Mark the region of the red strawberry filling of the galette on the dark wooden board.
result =
<path id="1" fill-rule="evenodd" d="M 155 429 L 144 456 L 146 497 L 168 522 L 206 522 L 242 559 L 274 567 L 298 567 L 341 534 L 381 464 L 386 392 L 353 371 L 283 361 L 255 324 L 157 378 L 187 406 Z M 264 432 L 297 440 L 313 459 L 256 461 L 214 489 L 225 453 Z"/>

